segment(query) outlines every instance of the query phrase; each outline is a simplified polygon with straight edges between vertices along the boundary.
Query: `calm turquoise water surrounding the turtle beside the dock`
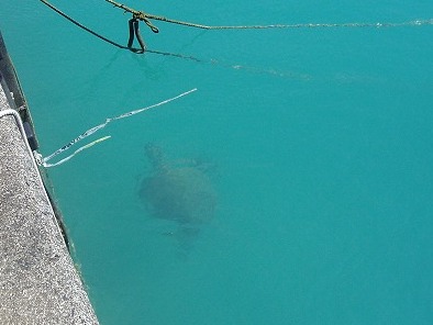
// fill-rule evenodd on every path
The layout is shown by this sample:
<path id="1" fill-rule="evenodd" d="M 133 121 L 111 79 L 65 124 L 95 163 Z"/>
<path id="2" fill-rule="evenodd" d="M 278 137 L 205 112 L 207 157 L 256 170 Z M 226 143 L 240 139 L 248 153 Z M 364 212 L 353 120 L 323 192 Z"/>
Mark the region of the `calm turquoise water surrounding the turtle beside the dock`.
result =
<path id="1" fill-rule="evenodd" d="M 215 25 L 433 18 L 430 0 L 154 2 L 127 4 Z M 104 1 L 53 3 L 126 42 Z M 40 1 L 0 11 L 45 156 L 198 88 L 49 169 L 101 324 L 432 324 L 433 27 L 155 24 L 149 48 L 203 63 L 114 48 Z M 140 200 L 149 142 L 214 166 L 216 212 L 188 249 Z"/>

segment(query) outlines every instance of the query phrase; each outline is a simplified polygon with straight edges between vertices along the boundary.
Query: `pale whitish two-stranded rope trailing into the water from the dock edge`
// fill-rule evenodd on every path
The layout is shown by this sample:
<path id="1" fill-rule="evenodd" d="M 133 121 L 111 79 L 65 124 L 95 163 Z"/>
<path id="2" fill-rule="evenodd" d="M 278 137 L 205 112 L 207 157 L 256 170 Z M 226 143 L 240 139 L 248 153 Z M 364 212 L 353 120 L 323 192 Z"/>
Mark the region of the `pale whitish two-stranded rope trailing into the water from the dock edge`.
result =
<path id="1" fill-rule="evenodd" d="M 196 91 L 196 90 L 197 90 L 197 88 L 193 88 L 193 89 L 191 89 L 191 90 L 185 91 L 185 92 L 182 92 L 182 93 L 180 93 L 180 94 L 178 94 L 178 96 L 175 96 L 175 97 L 173 97 L 173 98 L 166 99 L 166 100 L 164 100 L 164 101 L 162 101 L 162 102 L 158 102 L 158 103 L 156 103 L 156 104 L 153 104 L 153 105 L 149 105 L 149 107 L 146 107 L 146 108 L 143 108 L 143 109 L 134 110 L 134 111 L 131 111 L 131 112 L 127 112 L 127 113 L 123 113 L 123 114 L 120 114 L 120 115 L 114 116 L 114 117 L 108 117 L 108 119 L 106 119 L 106 122 L 103 122 L 103 123 L 101 123 L 101 124 L 99 124 L 99 125 L 96 125 L 96 126 L 93 126 L 93 127 L 87 130 L 86 132 L 81 133 L 79 136 L 77 136 L 76 138 L 74 138 L 71 142 L 69 142 L 68 144 L 64 145 L 62 148 L 55 150 L 53 154 L 46 156 L 45 158 L 40 159 L 40 160 L 41 160 L 40 164 L 43 165 L 44 167 L 54 167 L 54 166 L 58 166 L 58 165 L 60 165 L 60 164 L 63 164 L 63 162 L 69 160 L 70 158 L 73 158 L 75 155 L 77 155 L 78 153 L 82 152 L 84 149 L 87 149 L 87 148 L 89 148 L 89 147 L 91 147 L 91 146 L 93 146 L 93 145 L 96 145 L 96 144 L 98 144 L 98 143 L 100 143 L 100 142 L 103 142 L 103 141 L 110 138 L 110 136 L 104 136 L 104 137 L 98 138 L 98 139 L 93 141 L 92 143 L 89 143 L 89 144 L 87 144 L 87 145 L 85 145 L 85 146 L 78 148 L 77 150 L 74 152 L 74 154 L 71 154 L 70 156 L 68 156 L 68 157 L 66 157 L 66 158 L 64 158 L 64 159 L 62 159 L 62 160 L 59 160 L 58 162 L 48 164 L 48 161 L 49 161 L 51 159 L 53 159 L 53 158 L 56 157 L 57 155 L 59 155 L 59 154 L 62 154 L 62 153 L 68 150 L 68 149 L 69 149 L 71 146 L 74 146 L 76 143 L 78 143 L 78 142 L 85 139 L 85 138 L 87 138 L 88 136 L 95 134 L 95 133 L 98 132 L 99 130 L 106 127 L 109 123 L 111 123 L 111 122 L 113 122 L 113 121 L 116 121 L 116 120 L 130 117 L 130 116 L 132 116 L 132 115 L 142 113 L 142 112 L 144 112 L 144 111 L 148 111 L 148 110 L 151 110 L 151 109 L 154 109 L 154 108 L 160 107 L 160 105 L 163 105 L 163 104 L 169 103 L 169 102 L 171 102 L 171 101 L 174 101 L 174 100 L 177 100 L 177 99 L 179 99 L 179 98 L 181 98 L 181 97 L 184 97 L 184 96 L 187 96 L 187 94 L 189 94 L 189 93 L 191 93 L 191 92 L 193 92 L 193 91 Z"/>

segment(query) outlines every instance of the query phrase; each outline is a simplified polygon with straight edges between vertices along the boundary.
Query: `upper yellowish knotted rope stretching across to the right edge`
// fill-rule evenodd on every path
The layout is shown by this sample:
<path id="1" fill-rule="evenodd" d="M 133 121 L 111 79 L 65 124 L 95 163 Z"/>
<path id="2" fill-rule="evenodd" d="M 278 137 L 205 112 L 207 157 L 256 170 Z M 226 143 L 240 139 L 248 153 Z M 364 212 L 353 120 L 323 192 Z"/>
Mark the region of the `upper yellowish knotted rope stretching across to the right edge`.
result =
<path id="1" fill-rule="evenodd" d="M 163 21 L 166 23 L 173 23 L 189 27 L 202 29 L 202 30 L 265 30 L 265 29 L 317 29 L 317 27 L 397 27 L 397 26 L 420 26 L 420 25 L 433 25 L 433 19 L 430 20 L 415 20 L 402 23 L 331 23 L 331 24 L 271 24 L 271 25 L 221 25 L 221 26 L 209 26 L 203 24 L 197 24 L 191 22 L 184 22 L 179 20 L 168 19 L 162 15 L 155 15 L 129 8 L 122 3 L 113 0 L 106 0 L 116 8 L 123 9 L 125 12 L 132 13 L 135 18 L 144 21 L 154 33 L 158 32 L 149 20 Z"/>

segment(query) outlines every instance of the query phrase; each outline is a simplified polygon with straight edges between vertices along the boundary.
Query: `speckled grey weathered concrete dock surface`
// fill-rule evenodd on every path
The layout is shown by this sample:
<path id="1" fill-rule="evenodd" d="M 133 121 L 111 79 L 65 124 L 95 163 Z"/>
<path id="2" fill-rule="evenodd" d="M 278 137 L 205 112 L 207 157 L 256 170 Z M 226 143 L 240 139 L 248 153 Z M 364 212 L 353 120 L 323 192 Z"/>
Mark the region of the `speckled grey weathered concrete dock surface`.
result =
<path id="1" fill-rule="evenodd" d="M 32 159 L 14 119 L 1 117 L 0 324 L 98 324 Z"/>

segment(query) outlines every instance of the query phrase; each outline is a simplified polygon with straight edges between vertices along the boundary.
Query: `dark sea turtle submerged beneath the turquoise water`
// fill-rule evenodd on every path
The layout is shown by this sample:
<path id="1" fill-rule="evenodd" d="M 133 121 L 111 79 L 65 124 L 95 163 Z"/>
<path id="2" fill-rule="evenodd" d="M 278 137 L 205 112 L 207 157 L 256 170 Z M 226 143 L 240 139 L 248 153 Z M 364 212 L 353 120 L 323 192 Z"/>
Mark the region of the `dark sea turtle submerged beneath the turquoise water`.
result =
<path id="1" fill-rule="evenodd" d="M 216 193 L 207 166 L 195 160 L 169 164 L 160 147 L 145 146 L 152 171 L 140 186 L 140 198 L 152 216 L 170 220 L 182 232 L 196 233 L 210 222 L 216 205 Z"/>

